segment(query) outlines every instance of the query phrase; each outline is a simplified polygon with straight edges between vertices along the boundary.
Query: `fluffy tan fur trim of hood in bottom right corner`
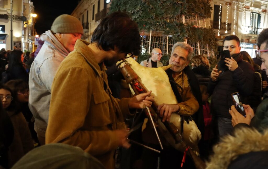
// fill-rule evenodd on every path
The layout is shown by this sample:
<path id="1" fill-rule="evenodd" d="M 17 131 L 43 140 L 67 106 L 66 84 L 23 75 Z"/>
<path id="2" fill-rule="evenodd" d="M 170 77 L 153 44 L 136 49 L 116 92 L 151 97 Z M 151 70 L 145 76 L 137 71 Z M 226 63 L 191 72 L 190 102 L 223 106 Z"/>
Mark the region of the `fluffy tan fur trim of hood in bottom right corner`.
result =
<path id="1" fill-rule="evenodd" d="M 213 147 L 214 155 L 206 162 L 207 169 L 228 168 L 239 155 L 249 152 L 268 151 L 268 130 L 259 133 L 256 129 L 237 128 Z"/>

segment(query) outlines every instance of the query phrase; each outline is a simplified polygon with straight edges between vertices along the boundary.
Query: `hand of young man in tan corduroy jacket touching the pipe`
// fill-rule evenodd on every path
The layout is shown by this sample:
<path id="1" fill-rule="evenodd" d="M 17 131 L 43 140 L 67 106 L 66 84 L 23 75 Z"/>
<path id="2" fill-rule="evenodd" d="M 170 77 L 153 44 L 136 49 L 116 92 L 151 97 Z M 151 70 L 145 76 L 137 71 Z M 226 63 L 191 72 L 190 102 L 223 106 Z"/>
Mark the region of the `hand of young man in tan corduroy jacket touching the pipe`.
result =
<path id="1" fill-rule="evenodd" d="M 152 102 L 154 101 L 154 96 L 150 95 L 152 91 L 147 93 L 142 93 L 132 97 L 128 103 L 130 109 L 142 109 L 144 106 L 151 107 Z"/>

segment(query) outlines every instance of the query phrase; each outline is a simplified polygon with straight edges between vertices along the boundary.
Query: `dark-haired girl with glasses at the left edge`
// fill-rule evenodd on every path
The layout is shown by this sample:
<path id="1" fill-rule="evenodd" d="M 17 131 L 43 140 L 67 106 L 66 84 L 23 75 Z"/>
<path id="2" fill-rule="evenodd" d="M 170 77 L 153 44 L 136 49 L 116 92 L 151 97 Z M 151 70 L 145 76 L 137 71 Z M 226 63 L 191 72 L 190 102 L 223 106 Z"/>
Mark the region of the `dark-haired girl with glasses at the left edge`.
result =
<path id="1" fill-rule="evenodd" d="M 9 167 L 11 168 L 22 156 L 33 149 L 33 140 L 25 117 L 17 110 L 12 91 L 8 86 L 0 85 L 0 99 L 14 128 L 14 138 L 8 150 Z"/>

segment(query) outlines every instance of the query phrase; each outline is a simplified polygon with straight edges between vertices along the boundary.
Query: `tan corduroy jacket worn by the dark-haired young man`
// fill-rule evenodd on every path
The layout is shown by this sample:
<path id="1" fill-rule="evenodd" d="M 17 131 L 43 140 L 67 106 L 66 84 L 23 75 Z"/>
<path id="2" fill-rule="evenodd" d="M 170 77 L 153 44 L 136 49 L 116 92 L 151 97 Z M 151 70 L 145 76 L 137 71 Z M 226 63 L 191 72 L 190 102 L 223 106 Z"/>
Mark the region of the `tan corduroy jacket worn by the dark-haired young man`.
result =
<path id="1" fill-rule="evenodd" d="M 58 68 L 51 89 L 46 144 L 79 146 L 106 168 L 114 168 L 118 141 L 113 130 L 125 128 L 122 112 L 131 115 L 130 98 L 111 96 L 106 68 L 96 62 L 89 44 L 77 40 L 75 50 Z"/>

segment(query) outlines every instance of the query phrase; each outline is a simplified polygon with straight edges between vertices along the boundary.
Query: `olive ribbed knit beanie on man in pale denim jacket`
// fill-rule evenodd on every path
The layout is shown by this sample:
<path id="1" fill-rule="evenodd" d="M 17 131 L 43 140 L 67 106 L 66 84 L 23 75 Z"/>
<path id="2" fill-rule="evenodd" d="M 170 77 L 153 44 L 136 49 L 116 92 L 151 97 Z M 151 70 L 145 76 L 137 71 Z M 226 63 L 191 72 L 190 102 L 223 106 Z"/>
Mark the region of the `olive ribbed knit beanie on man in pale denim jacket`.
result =
<path id="1" fill-rule="evenodd" d="M 71 15 L 63 14 L 58 16 L 50 29 L 53 33 L 79 33 L 83 34 L 83 27 L 80 21 Z"/>

